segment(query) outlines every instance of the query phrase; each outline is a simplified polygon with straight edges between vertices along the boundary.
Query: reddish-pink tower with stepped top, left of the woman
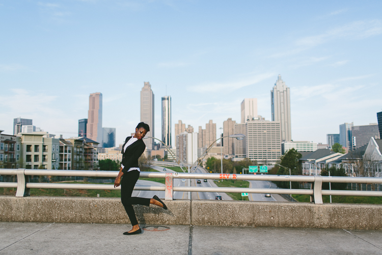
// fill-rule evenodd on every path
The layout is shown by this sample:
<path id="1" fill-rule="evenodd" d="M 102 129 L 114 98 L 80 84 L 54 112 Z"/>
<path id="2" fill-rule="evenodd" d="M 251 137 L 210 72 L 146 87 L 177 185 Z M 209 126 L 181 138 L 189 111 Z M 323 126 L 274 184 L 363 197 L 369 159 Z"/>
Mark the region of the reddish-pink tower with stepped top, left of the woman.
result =
<path id="1" fill-rule="evenodd" d="M 92 93 L 89 96 L 88 124 L 86 137 L 102 146 L 102 94 Z"/>

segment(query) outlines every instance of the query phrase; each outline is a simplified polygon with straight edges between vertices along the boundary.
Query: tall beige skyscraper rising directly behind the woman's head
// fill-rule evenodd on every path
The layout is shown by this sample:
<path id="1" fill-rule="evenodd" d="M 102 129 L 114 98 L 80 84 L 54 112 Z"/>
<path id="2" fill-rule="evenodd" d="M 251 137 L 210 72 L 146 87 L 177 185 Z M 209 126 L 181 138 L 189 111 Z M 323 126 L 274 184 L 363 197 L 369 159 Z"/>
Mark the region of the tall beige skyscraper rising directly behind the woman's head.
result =
<path id="1" fill-rule="evenodd" d="M 151 90 L 149 82 L 144 82 L 144 86 L 141 90 L 141 121 L 150 126 L 150 132 L 148 132 L 147 136 L 154 137 L 154 93 Z M 143 141 L 147 149 L 153 149 L 154 139 L 147 138 Z"/>

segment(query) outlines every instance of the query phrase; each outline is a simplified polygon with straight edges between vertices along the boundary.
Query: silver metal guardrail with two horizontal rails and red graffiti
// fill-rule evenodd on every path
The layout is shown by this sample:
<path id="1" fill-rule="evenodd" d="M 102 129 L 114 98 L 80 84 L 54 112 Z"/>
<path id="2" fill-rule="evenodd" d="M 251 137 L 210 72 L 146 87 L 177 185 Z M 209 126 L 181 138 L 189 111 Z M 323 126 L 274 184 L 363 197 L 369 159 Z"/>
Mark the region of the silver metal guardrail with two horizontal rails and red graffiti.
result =
<path id="1" fill-rule="evenodd" d="M 1 175 L 17 175 L 17 183 L 0 183 L 0 187 L 17 188 L 16 196 L 30 195 L 31 188 L 48 189 L 101 189 L 119 190 L 114 185 L 106 184 L 64 184 L 64 183 L 30 183 L 29 176 L 84 176 L 84 177 L 117 177 L 118 171 L 93 170 L 44 170 L 44 169 L 0 169 Z M 231 192 L 231 193 L 270 193 L 270 194 L 305 194 L 311 201 L 322 203 L 322 195 L 345 196 L 382 196 L 382 191 L 322 190 L 322 183 L 363 183 L 382 184 L 381 177 L 340 177 L 320 175 L 259 175 L 259 174 L 222 174 L 222 173 L 178 173 L 178 172 L 141 172 L 140 177 L 165 178 L 165 186 L 135 186 L 134 190 L 165 191 L 165 199 L 172 200 L 174 191 L 184 192 Z M 284 181 L 308 182 L 311 189 L 252 189 L 231 187 L 182 187 L 173 186 L 173 179 L 210 179 L 210 180 L 243 180 L 243 181 Z"/>

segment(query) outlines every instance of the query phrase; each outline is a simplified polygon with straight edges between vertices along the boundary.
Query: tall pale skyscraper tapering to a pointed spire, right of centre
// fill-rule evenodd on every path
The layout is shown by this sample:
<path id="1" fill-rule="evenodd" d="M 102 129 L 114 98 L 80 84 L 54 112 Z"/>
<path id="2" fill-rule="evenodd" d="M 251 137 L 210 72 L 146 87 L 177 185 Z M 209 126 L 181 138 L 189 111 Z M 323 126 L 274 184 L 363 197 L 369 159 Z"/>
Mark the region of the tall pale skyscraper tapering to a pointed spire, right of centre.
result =
<path id="1" fill-rule="evenodd" d="M 281 124 L 282 141 L 291 141 L 291 121 L 290 121 L 290 90 L 281 80 L 281 75 L 277 79 L 273 90 L 270 91 L 272 121 Z"/>

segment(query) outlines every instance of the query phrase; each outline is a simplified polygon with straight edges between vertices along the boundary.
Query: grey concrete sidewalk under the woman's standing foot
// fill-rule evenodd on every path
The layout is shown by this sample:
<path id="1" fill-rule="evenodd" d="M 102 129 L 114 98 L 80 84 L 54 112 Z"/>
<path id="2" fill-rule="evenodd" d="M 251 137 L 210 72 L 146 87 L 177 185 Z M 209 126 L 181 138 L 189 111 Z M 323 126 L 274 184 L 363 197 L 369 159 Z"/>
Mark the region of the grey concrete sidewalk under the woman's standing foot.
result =
<path id="1" fill-rule="evenodd" d="M 141 226 L 143 228 L 143 226 Z M 0 222 L 0 254 L 382 254 L 382 231 Z"/>

